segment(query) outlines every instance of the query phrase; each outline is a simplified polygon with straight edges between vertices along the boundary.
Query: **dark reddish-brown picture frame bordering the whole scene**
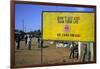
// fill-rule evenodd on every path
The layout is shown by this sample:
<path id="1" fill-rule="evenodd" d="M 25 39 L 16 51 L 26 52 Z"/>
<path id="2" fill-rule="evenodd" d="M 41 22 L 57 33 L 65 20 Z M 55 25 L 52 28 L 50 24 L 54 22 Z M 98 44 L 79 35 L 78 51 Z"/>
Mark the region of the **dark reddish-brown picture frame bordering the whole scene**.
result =
<path id="1" fill-rule="evenodd" d="M 19 66 L 16 67 L 15 62 L 15 35 L 14 35 L 14 28 L 15 28 L 15 4 L 31 4 L 31 5 L 44 5 L 44 6 L 64 6 L 64 7 L 84 7 L 84 8 L 94 8 L 95 9 L 95 19 L 94 19 L 94 25 L 95 25 L 95 41 L 94 41 L 94 61 L 93 62 L 77 62 L 77 63 L 67 63 L 67 64 L 41 64 L 41 65 L 25 65 L 25 66 Z M 48 3 L 48 2 L 33 2 L 33 1 L 14 1 L 11 0 L 11 33 L 10 33 L 10 46 L 11 46 L 11 68 L 25 68 L 25 67 L 41 67 L 41 66 L 57 66 L 57 65 L 75 65 L 75 64 L 87 64 L 87 63 L 96 63 L 96 6 L 95 5 L 77 5 L 77 4 L 64 4 L 64 3 Z M 43 15 L 43 14 L 42 14 Z M 42 21 L 43 19 L 41 19 Z M 42 21 L 43 22 L 43 21 Z M 42 27 L 41 27 L 42 28 Z M 43 31 L 42 31 L 43 32 Z M 43 34 L 43 33 L 42 33 Z M 42 41 L 43 42 L 43 41 Z M 42 45 L 42 43 L 41 43 Z M 42 56 L 42 48 L 41 48 L 41 56 Z M 41 62 L 42 62 L 41 57 Z"/>

